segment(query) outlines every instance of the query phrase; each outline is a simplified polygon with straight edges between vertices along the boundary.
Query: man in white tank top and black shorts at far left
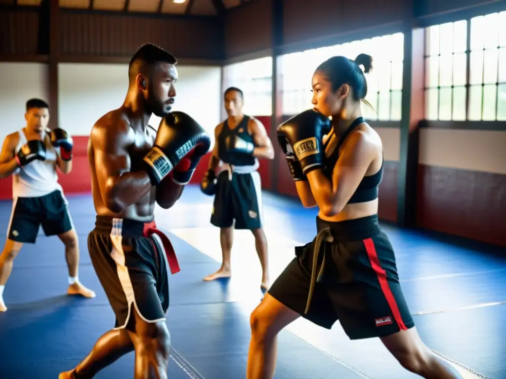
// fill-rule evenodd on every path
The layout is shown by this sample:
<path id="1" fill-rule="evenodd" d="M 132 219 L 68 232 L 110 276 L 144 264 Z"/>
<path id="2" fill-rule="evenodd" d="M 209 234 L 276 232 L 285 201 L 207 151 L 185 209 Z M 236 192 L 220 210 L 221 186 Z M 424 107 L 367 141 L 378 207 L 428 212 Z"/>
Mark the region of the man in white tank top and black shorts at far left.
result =
<path id="1" fill-rule="evenodd" d="M 49 106 L 43 100 L 28 100 L 25 119 L 26 127 L 6 137 L 0 153 L 0 178 L 13 175 L 12 214 L 0 255 L 0 312 L 7 310 L 3 292 L 14 258 L 23 244 L 35 243 L 40 226 L 46 235 L 58 235 L 65 245 L 67 293 L 95 297 L 77 277 L 77 234 L 56 172 L 57 167 L 64 174 L 72 169 L 72 138 L 59 128 L 47 132 Z"/>

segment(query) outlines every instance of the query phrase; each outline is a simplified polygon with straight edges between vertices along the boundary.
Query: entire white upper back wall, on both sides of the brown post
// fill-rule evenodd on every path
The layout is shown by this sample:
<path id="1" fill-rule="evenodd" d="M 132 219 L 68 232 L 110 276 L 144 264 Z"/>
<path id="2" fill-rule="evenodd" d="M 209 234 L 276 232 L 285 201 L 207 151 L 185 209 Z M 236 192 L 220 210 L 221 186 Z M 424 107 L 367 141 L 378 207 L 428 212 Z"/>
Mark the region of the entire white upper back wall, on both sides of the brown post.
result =
<path id="1" fill-rule="evenodd" d="M 48 66 L 42 63 L 0 63 L 0 138 L 24 126 L 26 101 L 49 101 Z M 178 67 L 173 109 L 190 114 L 214 136 L 220 122 L 221 68 Z M 128 88 L 128 65 L 59 64 L 60 127 L 72 135 L 89 135 L 103 114 L 121 106 Z M 158 127 L 152 116 L 150 124 Z"/>

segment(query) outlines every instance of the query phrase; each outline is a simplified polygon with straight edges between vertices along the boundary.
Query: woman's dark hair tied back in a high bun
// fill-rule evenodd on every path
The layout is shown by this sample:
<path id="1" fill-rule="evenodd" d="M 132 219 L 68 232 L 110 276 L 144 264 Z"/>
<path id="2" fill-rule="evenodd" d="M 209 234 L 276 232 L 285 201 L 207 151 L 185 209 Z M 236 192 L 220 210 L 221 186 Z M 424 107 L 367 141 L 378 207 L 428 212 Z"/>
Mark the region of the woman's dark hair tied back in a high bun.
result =
<path id="1" fill-rule="evenodd" d="M 360 68 L 362 66 L 364 70 Z M 367 96 L 367 80 L 364 73 L 372 70 L 372 57 L 367 54 L 359 54 L 354 61 L 343 56 L 335 56 L 320 64 L 316 71 L 323 74 L 325 80 L 332 84 L 335 91 L 343 84 L 353 88 L 353 97 L 356 101 L 363 101 L 369 107 L 365 97 Z"/>

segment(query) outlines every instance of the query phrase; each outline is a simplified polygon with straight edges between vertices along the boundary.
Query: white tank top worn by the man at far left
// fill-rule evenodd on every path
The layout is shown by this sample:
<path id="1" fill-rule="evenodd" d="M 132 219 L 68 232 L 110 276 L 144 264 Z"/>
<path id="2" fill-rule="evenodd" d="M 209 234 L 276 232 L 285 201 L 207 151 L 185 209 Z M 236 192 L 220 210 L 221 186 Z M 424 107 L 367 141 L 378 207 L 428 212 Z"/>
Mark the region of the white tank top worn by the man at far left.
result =
<path id="1" fill-rule="evenodd" d="M 27 143 L 24 131 L 19 130 L 18 134 L 19 142 L 16 145 L 15 154 Z M 48 195 L 57 189 L 62 191 L 56 172 L 57 153 L 47 134 L 44 136 L 44 144 L 46 145 L 45 161 L 34 160 L 14 171 L 12 180 L 13 198 L 34 198 Z"/>

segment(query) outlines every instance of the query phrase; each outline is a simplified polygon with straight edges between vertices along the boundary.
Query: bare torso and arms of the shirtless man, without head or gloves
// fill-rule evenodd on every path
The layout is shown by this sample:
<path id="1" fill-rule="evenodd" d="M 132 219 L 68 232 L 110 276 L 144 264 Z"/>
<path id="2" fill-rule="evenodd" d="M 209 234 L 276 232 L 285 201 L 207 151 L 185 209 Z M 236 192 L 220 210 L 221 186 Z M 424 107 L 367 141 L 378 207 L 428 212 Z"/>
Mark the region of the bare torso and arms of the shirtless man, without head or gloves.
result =
<path id="1" fill-rule="evenodd" d="M 167 209 L 179 199 L 183 186 L 174 183 L 170 175 L 154 187 L 142 169 L 143 157 L 155 137 L 156 131 L 150 126 L 135 129 L 123 108 L 97 121 L 88 143 L 97 215 L 150 222 L 155 202 Z"/>

